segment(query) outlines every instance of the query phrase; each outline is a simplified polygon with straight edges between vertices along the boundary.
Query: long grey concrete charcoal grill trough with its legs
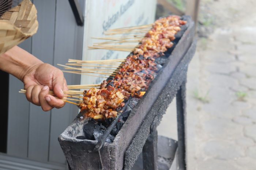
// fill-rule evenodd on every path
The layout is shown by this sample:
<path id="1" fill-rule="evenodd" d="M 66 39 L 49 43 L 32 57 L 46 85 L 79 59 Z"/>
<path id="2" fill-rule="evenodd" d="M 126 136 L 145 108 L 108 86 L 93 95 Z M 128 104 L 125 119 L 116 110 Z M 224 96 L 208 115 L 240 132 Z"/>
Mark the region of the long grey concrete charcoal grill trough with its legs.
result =
<path id="1" fill-rule="evenodd" d="M 101 159 L 99 153 L 94 152 L 97 141 L 76 139 L 84 135 L 83 126 L 89 120 L 81 119 L 82 113 L 59 136 L 70 169 L 136 169 L 142 167 L 139 160 L 136 162 L 139 155 L 143 158 L 143 169 L 169 169 L 171 166 L 186 169 L 185 84 L 196 41 L 193 21 L 187 16 L 183 18 L 188 23 L 176 35 L 175 46 L 165 53 L 165 64 L 151 82 L 146 94 L 131 110 L 114 141 L 104 143 L 99 152 Z M 175 96 L 178 141 L 158 137 L 156 130 L 162 115 Z M 177 161 L 173 161 L 174 159 Z"/>

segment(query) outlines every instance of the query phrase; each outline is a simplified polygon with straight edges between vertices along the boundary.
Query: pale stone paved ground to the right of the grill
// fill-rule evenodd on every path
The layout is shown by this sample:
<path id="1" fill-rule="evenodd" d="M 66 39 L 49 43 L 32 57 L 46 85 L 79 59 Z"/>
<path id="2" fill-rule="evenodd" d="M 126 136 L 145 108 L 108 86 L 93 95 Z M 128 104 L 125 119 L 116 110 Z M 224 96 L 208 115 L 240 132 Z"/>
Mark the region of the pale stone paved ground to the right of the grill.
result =
<path id="1" fill-rule="evenodd" d="M 202 0 L 215 23 L 188 71 L 188 170 L 256 169 L 255 7 L 249 0 Z M 159 135 L 177 139 L 175 114 L 174 101 Z"/>

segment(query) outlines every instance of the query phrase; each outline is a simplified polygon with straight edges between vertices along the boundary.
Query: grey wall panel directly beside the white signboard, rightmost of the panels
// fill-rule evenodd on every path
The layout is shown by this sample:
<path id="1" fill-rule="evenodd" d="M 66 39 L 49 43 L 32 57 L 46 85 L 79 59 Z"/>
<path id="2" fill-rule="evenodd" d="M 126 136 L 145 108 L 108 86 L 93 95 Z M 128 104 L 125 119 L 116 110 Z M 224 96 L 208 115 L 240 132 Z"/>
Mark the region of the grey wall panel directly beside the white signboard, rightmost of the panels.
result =
<path id="1" fill-rule="evenodd" d="M 82 1 L 83 2 L 83 1 Z M 82 3 L 81 3 L 82 4 Z M 84 5 L 82 5 L 84 6 Z M 78 39 L 79 37 L 79 39 Z M 67 63 L 69 58 L 82 58 L 83 27 L 77 26 L 68 1 L 57 0 L 54 44 L 54 66 Z M 67 84 L 79 84 L 80 76 L 65 74 Z M 64 108 L 52 110 L 49 161 L 66 163 L 57 137 L 78 113 L 78 108 L 67 103 Z"/>

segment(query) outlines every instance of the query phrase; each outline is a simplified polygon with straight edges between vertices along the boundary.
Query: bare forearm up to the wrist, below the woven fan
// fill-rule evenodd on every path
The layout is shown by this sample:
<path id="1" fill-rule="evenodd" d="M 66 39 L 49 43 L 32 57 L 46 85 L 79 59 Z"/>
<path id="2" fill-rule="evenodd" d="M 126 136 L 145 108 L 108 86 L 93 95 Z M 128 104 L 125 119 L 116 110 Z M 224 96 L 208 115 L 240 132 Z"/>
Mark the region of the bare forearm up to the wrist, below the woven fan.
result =
<path id="1" fill-rule="evenodd" d="M 0 70 L 8 72 L 20 80 L 23 80 L 29 70 L 42 63 L 41 60 L 18 46 L 0 55 Z"/>

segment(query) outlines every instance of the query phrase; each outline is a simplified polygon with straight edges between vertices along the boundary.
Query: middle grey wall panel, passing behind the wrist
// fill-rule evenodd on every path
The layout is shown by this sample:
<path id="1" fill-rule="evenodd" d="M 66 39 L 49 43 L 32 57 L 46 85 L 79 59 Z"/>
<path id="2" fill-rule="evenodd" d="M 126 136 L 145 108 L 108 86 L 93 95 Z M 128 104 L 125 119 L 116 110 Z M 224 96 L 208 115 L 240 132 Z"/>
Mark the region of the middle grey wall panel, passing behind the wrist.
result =
<path id="1" fill-rule="evenodd" d="M 32 37 L 31 52 L 45 63 L 53 64 L 54 44 L 54 0 L 34 0 L 39 23 L 37 33 Z M 50 132 L 50 111 L 30 104 L 29 115 L 29 159 L 47 162 Z"/>

